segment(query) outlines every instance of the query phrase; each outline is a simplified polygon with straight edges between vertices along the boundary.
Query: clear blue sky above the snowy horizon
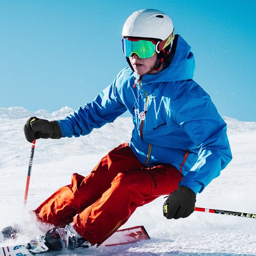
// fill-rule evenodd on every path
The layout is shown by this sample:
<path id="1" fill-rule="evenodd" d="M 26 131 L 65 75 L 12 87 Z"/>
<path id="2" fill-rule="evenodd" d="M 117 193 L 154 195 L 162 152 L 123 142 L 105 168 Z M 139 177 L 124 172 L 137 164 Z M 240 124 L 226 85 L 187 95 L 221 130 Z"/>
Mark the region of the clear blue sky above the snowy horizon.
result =
<path id="1" fill-rule="evenodd" d="M 91 102 L 127 66 L 123 23 L 143 8 L 172 18 L 220 115 L 256 121 L 255 0 L 1 0 L 0 107 Z"/>

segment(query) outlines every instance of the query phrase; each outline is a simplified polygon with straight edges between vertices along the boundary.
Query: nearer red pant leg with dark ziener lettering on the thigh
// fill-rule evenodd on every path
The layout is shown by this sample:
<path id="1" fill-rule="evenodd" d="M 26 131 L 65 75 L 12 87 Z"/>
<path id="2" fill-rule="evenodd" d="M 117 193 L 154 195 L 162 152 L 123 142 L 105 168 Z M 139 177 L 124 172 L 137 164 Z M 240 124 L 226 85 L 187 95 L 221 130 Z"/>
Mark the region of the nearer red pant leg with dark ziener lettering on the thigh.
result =
<path id="1" fill-rule="evenodd" d="M 74 217 L 74 228 L 91 244 L 100 244 L 123 225 L 137 207 L 160 195 L 169 195 L 181 180 L 182 175 L 172 165 L 120 172 L 97 202 Z"/>

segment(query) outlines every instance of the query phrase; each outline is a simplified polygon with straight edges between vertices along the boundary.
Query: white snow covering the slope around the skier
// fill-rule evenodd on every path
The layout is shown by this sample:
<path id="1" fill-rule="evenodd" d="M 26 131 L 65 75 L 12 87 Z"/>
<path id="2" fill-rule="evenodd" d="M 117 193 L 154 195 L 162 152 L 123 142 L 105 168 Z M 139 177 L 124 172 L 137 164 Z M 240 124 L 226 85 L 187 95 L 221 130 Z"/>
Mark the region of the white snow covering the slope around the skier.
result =
<path id="1" fill-rule="evenodd" d="M 53 113 L 0 108 L 0 228 L 29 220 L 28 211 L 59 187 L 69 184 L 72 173 L 87 175 L 111 148 L 129 141 L 132 121 L 125 117 L 95 129 L 88 136 L 37 140 L 28 203 L 23 212 L 31 151 L 31 143 L 23 135 L 23 125 L 30 116 L 56 120 L 72 111 L 68 107 Z M 256 123 L 224 119 L 228 124 L 233 160 L 220 177 L 197 195 L 196 205 L 256 213 Z M 162 215 L 163 202 L 164 197 L 159 197 L 138 208 L 122 227 L 144 225 L 151 240 L 51 255 L 256 255 L 256 219 L 194 212 L 188 218 L 167 220 Z M 24 225 L 28 232 L 18 237 L 19 243 L 40 232 L 33 223 Z M 8 245 L 11 244 L 14 242 L 8 241 Z"/>

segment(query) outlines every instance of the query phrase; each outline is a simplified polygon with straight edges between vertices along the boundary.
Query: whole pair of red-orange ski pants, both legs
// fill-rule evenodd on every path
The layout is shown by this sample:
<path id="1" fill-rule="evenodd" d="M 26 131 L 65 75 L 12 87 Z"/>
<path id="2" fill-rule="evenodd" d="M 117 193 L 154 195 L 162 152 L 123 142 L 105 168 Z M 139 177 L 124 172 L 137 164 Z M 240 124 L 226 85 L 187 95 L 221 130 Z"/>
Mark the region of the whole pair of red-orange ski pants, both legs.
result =
<path id="1" fill-rule="evenodd" d="M 181 180 L 174 166 L 148 168 L 123 143 L 104 156 L 87 177 L 74 173 L 71 184 L 58 189 L 34 212 L 39 221 L 56 227 L 73 222 L 77 233 L 92 245 L 101 244 L 137 207 L 169 195 Z"/>

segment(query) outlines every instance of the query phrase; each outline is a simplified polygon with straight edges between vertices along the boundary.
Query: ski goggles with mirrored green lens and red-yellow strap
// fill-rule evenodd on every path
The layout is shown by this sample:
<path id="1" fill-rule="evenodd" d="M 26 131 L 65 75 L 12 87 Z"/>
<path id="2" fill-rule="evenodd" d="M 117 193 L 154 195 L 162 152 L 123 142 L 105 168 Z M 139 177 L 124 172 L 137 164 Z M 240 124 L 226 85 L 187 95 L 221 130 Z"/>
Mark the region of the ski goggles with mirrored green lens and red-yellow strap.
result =
<path id="1" fill-rule="evenodd" d="M 158 42 L 147 38 L 124 37 L 122 39 L 123 54 L 126 57 L 137 54 L 141 59 L 147 59 L 152 57 L 156 52 L 159 53 L 162 51 L 173 40 L 174 31 L 166 40 Z"/>

